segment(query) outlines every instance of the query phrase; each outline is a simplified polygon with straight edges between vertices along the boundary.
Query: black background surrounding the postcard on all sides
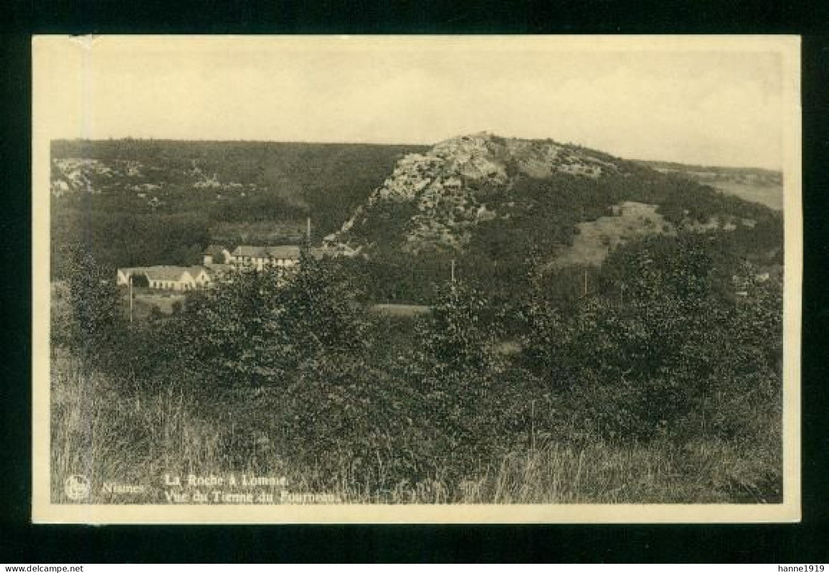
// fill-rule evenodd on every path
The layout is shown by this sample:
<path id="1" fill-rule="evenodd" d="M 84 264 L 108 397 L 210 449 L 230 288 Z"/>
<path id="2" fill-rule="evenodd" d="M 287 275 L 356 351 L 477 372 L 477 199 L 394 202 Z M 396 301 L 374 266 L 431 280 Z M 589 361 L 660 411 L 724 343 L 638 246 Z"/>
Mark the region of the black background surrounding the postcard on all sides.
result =
<path id="1" fill-rule="evenodd" d="M 0 3 L 0 563 L 829 561 L 829 2 L 91 0 Z M 802 523 L 559 526 L 32 526 L 31 35 L 802 35 Z M 647 113 L 647 110 L 642 110 Z M 44 303 L 47 303 L 44 301 Z M 681 515 L 676 516 L 681 519 Z"/>

